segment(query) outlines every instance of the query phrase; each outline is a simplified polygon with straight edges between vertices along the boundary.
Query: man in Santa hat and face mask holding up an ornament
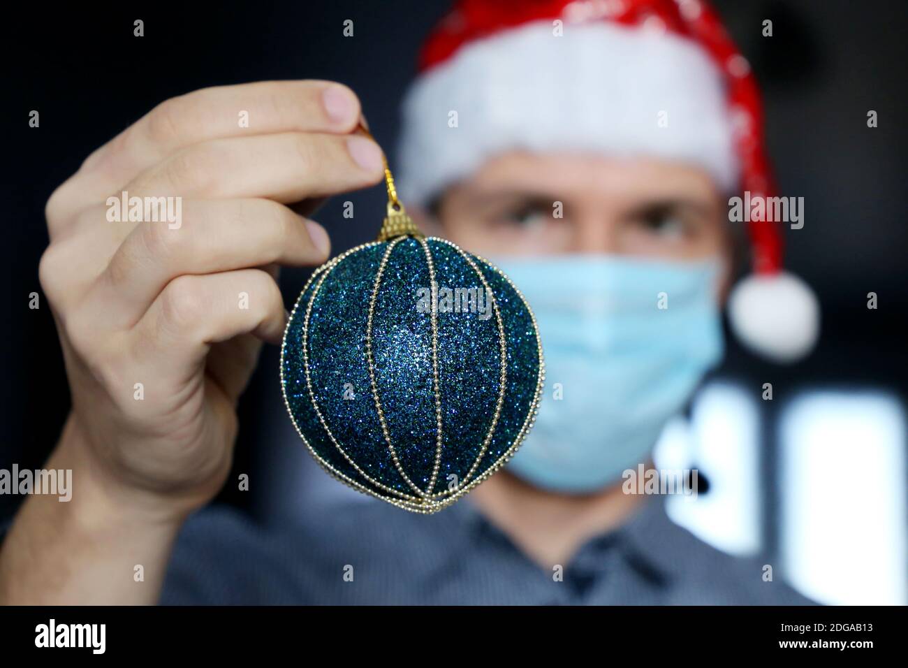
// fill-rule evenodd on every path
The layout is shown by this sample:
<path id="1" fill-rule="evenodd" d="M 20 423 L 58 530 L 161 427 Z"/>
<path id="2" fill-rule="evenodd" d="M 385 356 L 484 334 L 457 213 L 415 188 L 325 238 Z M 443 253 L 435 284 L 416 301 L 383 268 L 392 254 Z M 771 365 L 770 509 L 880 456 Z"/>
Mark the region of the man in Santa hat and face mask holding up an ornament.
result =
<path id="1" fill-rule="evenodd" d="M 73 469 L 75 489 L 23 505 L 0 602 L 804 603 L 621 485 L 721 356 L 723 202 L 737 184 L 769 186 L 745 61 L 698 2 L 498 6 L 464 2 L 429 40 L 402 192 L 427 231 L 499 264 L 538 316 L 565 397 L 543 400 L 508 469 L 431 516 L 340 503 L 264 533 L 194 514 L 230 470 L 260 341 L 281 340 L 276 266 L 328 257 L 323 228 L 296 212 L 382 176 L 341 85 L 202 90 L 98 149 L 47 204 L 40 275 L 74 403 L 47 466 Z M 236 126 L 238 109 L 253 128 Z M 107 222 L 123 191 L 181 196 L 179 229 Z M 809 298 L 780 277 L 772 228 L 751 233 L 770 277 L 737 310 L 768 289 L 783 319 L 741 329 L 792 356 L 809 331 L 779 336 L 804 316 L 780 299 Z"/>

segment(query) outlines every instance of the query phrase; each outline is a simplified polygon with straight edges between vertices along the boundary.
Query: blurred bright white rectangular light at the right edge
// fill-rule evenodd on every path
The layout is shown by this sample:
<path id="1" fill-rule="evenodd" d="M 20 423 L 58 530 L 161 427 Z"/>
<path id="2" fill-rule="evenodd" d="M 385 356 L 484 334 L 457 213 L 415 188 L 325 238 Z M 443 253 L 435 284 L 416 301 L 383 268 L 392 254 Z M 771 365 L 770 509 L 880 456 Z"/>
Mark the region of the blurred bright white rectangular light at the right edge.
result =
<path id="1" fill-rule="evenodd" d="M 791 582 L 820 603 L 908 603 L 902 406 L 885 394 L 804 394 L 781 437 Z"/>

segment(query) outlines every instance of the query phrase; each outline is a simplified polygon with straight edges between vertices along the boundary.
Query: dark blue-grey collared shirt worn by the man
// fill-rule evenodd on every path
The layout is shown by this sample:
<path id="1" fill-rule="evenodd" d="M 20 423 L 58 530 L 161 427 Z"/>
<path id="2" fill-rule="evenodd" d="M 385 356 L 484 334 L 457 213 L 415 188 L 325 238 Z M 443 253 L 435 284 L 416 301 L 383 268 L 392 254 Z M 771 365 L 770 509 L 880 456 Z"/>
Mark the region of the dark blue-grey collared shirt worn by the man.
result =
<path id="1" fill-rule="evenodd" d="M 528 559 L 469 497 L 434 515 L 335 503 L 265 530 L 210 508 L 177 541 L 162 603 L 806 604 L 760 559 L 718 552 L 647 500 L 562 567 Z"/>

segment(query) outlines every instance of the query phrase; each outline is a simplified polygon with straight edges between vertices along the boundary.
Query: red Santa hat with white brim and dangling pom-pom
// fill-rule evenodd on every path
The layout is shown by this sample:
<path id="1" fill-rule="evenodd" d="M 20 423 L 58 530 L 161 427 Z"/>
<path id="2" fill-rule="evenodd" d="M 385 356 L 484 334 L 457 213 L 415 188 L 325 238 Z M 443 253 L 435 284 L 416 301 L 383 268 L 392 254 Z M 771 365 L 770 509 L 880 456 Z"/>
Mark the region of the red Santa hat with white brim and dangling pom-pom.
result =
<path id="1" fill-rule="evenodd" d="M 774 193 L 755 78 L 704 0 L 459 0 L 419 71 L 400 144 L 412 204 L 515 148 L 665 157 L 728 194 Z M 816 298 L 783 271 L 778 222 L 747 232 L 753 273 L 730 296 L 732 328 L 755 352 L 795 360 L 816 340 Z"/>

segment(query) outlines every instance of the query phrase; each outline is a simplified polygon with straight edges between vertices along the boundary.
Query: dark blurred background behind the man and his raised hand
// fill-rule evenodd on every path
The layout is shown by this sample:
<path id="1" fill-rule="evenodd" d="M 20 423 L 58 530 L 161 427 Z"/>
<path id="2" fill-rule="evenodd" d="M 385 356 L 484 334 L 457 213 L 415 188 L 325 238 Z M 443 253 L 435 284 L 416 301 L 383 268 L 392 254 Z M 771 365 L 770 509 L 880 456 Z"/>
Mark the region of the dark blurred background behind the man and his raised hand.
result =
<path id="1" fill-rule="evenodd" d="M 0 468 L 37 467 L 52 448 L 69 396 L 54 324 L 40 293 L 37 265 L 47 244 L 44 202 L 95 147 L 165 98 L 211 85 L 263 79 L 322 78 L 350 85 L 392 165 L 400 97 L 415 72 L 423 35 L 448 3 L 396 2 L 219 4 L 195 9 L 134 5 L 77 11 L 20 6 L 3 31 L 3 260 L 7 318 L 3 331 L 3 434 Z M 903 314 L 903 197 L 908 127 L 904 122 L 905 3 L 814 0 L 715 3 L 765 92 L 770 154 L 781 194 L 804 196 L 804 229 L 787 231 L 787 264 L 814 285 L 823 304 L 823 336 L 814 354 L 790 367 L 765 364 L 729 339 L 719 374 L 745 383 L 771 381 L 777 399 L 804 385 L 908 392 Z M 133 36 L 141 18 L 145 36 Z M 342 35 L 345 19 L 354 36 Z M 761 35 L 772 19 L 774 36 Z M 31 110 L 40 128 L 28 126 Z M 875 110 L 879 126 L 868 128 Z M 444 156 L 436 156 L 439 160 Z M 341 198 L 346 199 L 347 197 Z M 341 200 L 315 217 L 334 251 L 368 241 L 384 210 L 380 187 Z M 306 278 L 285 270 L 291 304 Z M 866 308 L 866 294 L 879 308 Z M 772 407 L 765 409 L 765 466 L 774 457 Z M 301 447 L 283 412 L 278 353 L 265 351 L 241 406 L 236 472 L 267 469 L 281 451 Z M 235 477 L 233 478 L 235 480 Z M 837 481 L 836 484 L 847 484 Z M 221 500 L 265 513 L 262 486 L 226 490 Z M 21 497 L 0 497 L 0 518 Z M 772 499 L 770 499 L 770 505 Z M 767 514 L 765 540 L 774 526 Z"/>

